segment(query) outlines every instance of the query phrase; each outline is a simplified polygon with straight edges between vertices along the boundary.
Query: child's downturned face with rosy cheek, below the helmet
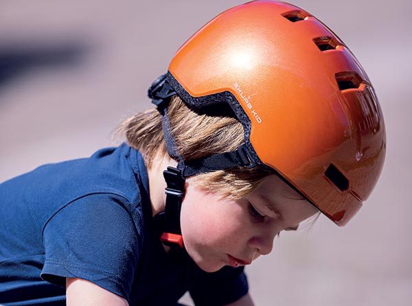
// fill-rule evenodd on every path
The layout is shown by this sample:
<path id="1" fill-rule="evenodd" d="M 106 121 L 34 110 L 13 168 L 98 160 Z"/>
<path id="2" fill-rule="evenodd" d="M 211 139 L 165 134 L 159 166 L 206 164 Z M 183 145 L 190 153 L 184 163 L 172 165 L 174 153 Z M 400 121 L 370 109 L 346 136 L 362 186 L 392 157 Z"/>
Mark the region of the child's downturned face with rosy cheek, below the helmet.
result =
<path id="1" fill-rule="evenodd" d="M 190 257 L 214 272 L 270 253 L 277 233 L 296 229 L 314 213 L 316 208 L 275 175 L 237 201 L 206 193 L 187 180 L 181 230 Z"/>

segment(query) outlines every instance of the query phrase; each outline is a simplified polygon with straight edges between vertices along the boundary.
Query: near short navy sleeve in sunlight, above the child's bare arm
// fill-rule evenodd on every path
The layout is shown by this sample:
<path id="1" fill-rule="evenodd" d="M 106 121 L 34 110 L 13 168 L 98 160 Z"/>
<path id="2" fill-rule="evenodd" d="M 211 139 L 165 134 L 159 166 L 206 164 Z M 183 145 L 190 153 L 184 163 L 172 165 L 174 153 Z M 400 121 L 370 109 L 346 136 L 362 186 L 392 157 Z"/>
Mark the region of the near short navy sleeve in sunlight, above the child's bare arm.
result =
<path id="1" fill-rule="evenodd" d="M 65 286 L 66 277 L 91 281 L 128 300 L 139 260 L 139 227 L 110 194 L 85 196 L 60 209 L 43 231 L 41 277 Z"/>

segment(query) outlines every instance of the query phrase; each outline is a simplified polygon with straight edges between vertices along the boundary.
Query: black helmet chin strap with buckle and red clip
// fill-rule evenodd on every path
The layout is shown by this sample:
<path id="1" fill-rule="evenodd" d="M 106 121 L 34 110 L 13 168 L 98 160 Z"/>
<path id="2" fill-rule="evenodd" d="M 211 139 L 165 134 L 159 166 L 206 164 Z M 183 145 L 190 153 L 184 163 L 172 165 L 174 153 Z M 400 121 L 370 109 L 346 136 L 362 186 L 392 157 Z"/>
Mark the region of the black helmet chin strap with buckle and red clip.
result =
<path id="1" fill-rule="evenodd" d="M 246 145 L 241 145 L 237 150 L 232 152 L 212 154 L 186 162 L 183 161 L 182 156 L 176 150 L 174 137 L 170 133 L 171 128 L 167 106 L 170 102 L 170 97 L 176 95 L 176 91 L 174 91 L 169 84 L 167 76 L 168 74 L 161 75 L 153 82 L 148 90 L 148 97 L 152 99 L 152 103 L 157 106 L 157 110 L 162 116 L 163 137 L 168 154 L 179 161 L 179 163 L 177 167 L 168 167 L 168 169 L 163 172 L 163 177 L 167 185 L 165 189 L 165 211 L 155 217 L 161 220 L 160 223 L 163 224 L 163 233 L 161 234 L 163 244 L 172 248 L 184 248 L 183 237 L 181 235 L 180 213 L 183 197 L 185 196 L 185 179 L 188 176 L 232 167 L 255 167 L 255 163 L 253 163 L 253 158 L 251 154 L 249 154 Z"/>

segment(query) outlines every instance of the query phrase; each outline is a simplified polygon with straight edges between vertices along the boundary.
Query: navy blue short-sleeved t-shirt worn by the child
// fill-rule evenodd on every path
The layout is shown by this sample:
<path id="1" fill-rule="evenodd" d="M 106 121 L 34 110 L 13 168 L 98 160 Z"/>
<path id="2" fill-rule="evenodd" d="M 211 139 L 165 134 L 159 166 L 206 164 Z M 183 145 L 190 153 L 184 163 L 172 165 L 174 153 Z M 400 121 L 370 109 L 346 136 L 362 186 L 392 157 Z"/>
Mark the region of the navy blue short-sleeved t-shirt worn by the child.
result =
<path id="1" fill-rule="evenodd" d="M 123 144 L 43 165 L 0 184 L 0 304 L 65 305 L 79 277 L 130 305 L 225 305 L 247 294 L 242 268 L 199 269 L 165 252 L 152 218 L 148 174 Z"/>

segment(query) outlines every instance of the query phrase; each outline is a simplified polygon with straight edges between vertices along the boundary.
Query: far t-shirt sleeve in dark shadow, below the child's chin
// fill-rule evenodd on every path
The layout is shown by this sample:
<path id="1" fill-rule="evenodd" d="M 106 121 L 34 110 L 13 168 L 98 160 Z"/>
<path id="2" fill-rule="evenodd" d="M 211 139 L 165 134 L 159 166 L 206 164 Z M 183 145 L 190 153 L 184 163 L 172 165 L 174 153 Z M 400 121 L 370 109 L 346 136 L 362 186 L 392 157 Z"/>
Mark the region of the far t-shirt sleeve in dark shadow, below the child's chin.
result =
<path id="1" fill-rule="evenodd" d="M 196 306 L 227 305 L 247 294 L 249 285 L 244 267 L 226 266 L 218 272 L 207 273 L 199 269 L 190 288 Z"/>

